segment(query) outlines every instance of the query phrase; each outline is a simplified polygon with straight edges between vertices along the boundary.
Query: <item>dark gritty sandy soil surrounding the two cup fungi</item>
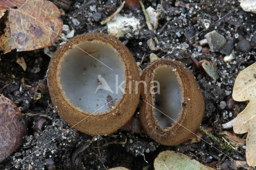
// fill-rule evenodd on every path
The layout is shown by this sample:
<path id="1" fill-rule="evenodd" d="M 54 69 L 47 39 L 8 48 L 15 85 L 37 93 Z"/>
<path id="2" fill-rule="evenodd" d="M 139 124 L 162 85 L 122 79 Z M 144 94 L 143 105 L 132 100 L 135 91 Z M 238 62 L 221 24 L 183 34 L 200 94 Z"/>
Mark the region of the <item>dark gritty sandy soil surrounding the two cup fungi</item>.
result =
<path id="1" fill-rule="evenodd" d="M 66 11 L 62 19 L 64 24 L 70 27 L 70 30 L 75 30 L 75 35 L 86 32 L 108 34 L 107 27 L 100 25 L 100 21 L 96 20 L 103 20 L 108 17 L 111 14 L 109 9 L 117 9 L 120 5 L 119 0 L 73 0 L 71 2 L 70 10 Z M 148 0 L 144 1 L 144 6 L 145 8 L 152 6 L 156 9 L 160 2 L 161 0 Z M 219 105 L 220 101 L 227 102 L 228 99 L 232 98 L 232 88 L 238 73 L 256 61 L 256 14 L 244 12 L 241 8 L 231 12 L 240 5 L 237 0 L 182 0 L 182 2 L 188 3 L 189 8 L 175 6 L 175 0 L 163 1 L 163 10 L 160 12 L 156 33 L 148 30 L 141 8 L 132 11 L 125 6 L 120 14 L 132 13 L 135 18 L 140 20 L 142 28 L 139 30 L 139 34 L 135 35 L 130 32 L 124 38 L 120 38 L 120 41 L 131 51 L 137 62 L 140 62 L 146 53 L 141 65 L 142 69 L 146 68 L 150 62 L 149 55 L 152 52 L 158 57 L 165 56 L 182 61 L 196 77 L 204 95 L 205 113 L 202 126 L 212 127 L 214 136 L 224 142 L 222 136 L 217 135 L 218 132 L 225 130 L 221 129 L 221 124 L 234 119 L 245 108 L 247 102 L 235 102 L 234 105 L 229 105 L 229 109 L 226 109 L 227 107 L 221 109 Z M 93 5 L 96 6 L 96 11 L 101 14 L 100 16 L 96 15 L 98 17 L 96 20 L 92 17 L 95 12 L 89 9 Z M 228 14 L 229 12 L 231 13 Z M 226 14 L 228 14 L 226 17 L 219 20 Z M 77 18 L 80 24 L 75 26 L 72 18 Z M 217 20 L 219 21 L 214 23 Z M 201 32 L 205 29 L 204 23 L 206 22 L 214 24 Z M 213 30 L 224 36 L 227 41 L 233 38 L 235 59 L 224 62 L 223 57 L 225 55 L 219 52 L 198 52 L 198 46 L 200 46 L 198 42 L 205 38 L 205 34 Z M 201 33 L 187 42 L 188 47 L 183 49 L 179 57 L 174 57 L 174 54 L 180 51 L 178 49 L 172 51 L 172 49 L 199 32 Z M 235 38 L 235 34 L 238 34 L 238 38 Z M 157 51 L 147 49 L 147 40 L 154 36 L 159 41 Z M 243 52 L 240 47 L 236 48 L 238 41 L 243 38 L 251 44 L 249 52 Z M 61 40 L 58 40 L 56 43 L 60 42 Z M 139 42 L 142 42 L 142 45 L 139 45 Z M 209 48 L 208 45 L 205 47 Z M 166 55 L 168 51 L 172 51 L 172 53 Z M 194 66 L 188 57 L 189 55 L 182 55 L 184 53 L 193 56 L 197 61 L 215 62 L 220 79 L 214 82 L 202 68 Z M 27 64 L 26 71 L 16 63 L 18 57 L 24 57 Z M 216 142 L 214 143 L 206 135 L 203 136 L 203 139 L 208 143 L 201 140 L 192 144 L 163 146 L 144 133 L 136 134 L 122 130 L 107 136 L 89 136 L 71 128 L 62 134 L 70 126 L 58 115 L 50 100 L 46 81 L 50 57 L 44 54 L 43 49 L 38 49 L 19 53 L 12 51 L 5 55 L 1 54 L 1 59 L 0 93 L 12 100 L 20 108 L 22 114 L 41 113 L 48 117 L 24 115 L 28 123 L 28 135 L 24 138 L 24 144 L 21 148 L 6 158 L 4 162 L 1 162 L 0 169 L 14 166 L 11 169 L 25 170 L 33 167 L 33 169 L 38 170 L 47 168 L 102 170 L 123 166 L 132 170 L 152 170 L 154 169 L 154 158 L 164 150 L 181 152 L 202 164 L 211 165 L 215 168 L 219 161 L 223 169 L 232 169 L 230 158 L 246 161 L 245 149 L 242 147 L 238 147 L 236 151 L 228 151 L 219 147 L 226 156 L 208 144 L 216 144 Z M 41 93 L 39 100 L 33 99 L 35 93 Z M 139 108 L 135 113 L 136 117 L 139 117 L 138 111 Z M 45 122 L 45 125 L 42 130 L 36 131 L 34 126 L 39 119 L 44 119 L 45 121 L 40 121 Z M 227 131 L 233 132 L 232 129 Z M 242 136 L 244 134 L 238 135 L 240 138 Z M 106 143 L 109 144 L 102 146 Z M 102 147 L 96 148 L 98 146 Z M 216 146 L 218 146 L 218 142 Z M 21 160 L 22 162 L 18 163 Z"/>

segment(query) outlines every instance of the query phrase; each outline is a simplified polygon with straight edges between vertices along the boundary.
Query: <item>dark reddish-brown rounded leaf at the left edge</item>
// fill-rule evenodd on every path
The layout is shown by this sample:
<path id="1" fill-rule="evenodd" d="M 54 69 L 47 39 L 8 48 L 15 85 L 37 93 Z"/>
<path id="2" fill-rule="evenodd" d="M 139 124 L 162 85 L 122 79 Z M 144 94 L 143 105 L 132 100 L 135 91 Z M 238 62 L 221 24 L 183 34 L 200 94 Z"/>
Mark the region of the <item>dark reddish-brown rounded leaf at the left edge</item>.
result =
<path id="1" fill-rule="evenodd" d="M 0 94 L 0 162 L 20 147 L 26 134 L 27 125 L 20 110 Z"/>

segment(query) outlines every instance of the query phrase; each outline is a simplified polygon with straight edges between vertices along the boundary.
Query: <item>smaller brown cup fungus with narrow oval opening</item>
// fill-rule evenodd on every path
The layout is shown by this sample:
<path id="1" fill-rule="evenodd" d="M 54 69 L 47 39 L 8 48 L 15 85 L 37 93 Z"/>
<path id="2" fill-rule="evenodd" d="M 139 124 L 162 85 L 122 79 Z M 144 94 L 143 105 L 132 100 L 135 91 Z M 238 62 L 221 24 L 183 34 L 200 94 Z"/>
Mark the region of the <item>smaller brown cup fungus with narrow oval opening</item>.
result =
<path id="1" fill-rule="evenodd" d="M 141 80 L 140 119 L 146 133 L 164 145 L 188 140 L 204 114 L 204 98 L 193 74 L 178 61 L 159 59 L 144 70 Z"/>

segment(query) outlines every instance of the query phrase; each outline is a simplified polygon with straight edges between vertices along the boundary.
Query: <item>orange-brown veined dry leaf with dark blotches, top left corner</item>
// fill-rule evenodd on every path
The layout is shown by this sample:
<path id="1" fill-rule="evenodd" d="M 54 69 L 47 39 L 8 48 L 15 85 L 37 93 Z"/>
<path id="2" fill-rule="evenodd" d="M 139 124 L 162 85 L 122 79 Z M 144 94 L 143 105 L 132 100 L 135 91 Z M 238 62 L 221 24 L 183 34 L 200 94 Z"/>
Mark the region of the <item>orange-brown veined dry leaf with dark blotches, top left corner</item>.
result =
<path id="1" fill-rule="evenodd" d="M 0 9 L 8 10 L 5 34 L 0 50 L 30 51 L 52 45 L 62 32 L 58 8 L 46 0 L 0 0 Z"/>

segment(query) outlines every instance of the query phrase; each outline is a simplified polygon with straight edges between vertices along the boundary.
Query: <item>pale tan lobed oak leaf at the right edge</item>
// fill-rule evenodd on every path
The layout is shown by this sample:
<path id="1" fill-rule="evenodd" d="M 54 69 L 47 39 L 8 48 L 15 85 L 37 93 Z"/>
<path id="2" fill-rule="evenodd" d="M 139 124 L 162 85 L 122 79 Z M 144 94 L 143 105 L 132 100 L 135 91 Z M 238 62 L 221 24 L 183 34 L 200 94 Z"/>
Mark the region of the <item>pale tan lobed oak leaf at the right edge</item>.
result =
<path id="1" fill-rule="evenodd" d="M 232 97 L 236 101 L 250 101 L 236 117 L 233 130 L 238 134 L 248 132 L 246 161 L 249 166 L 256 166 L 256 63 L 238 74 Z"/>

